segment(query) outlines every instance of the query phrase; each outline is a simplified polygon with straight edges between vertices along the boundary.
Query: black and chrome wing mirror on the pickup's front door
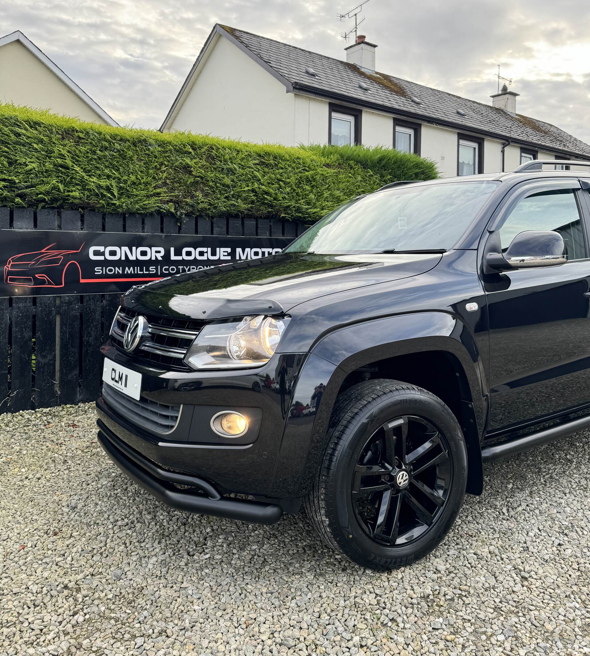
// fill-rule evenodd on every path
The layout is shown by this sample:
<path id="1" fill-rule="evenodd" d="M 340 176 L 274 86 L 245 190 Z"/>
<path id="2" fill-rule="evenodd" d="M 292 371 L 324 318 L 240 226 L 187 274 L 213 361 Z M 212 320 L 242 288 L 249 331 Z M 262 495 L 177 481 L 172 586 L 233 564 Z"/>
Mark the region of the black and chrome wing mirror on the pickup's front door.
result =
<path id="1" fill-rule="evenodd" d="M 499 247 L 499 234 L 492 233 L 490 241 L 493 242 L 490 251 L 496 252 L 488 252 L 485 255 L 485 268 L 489 273 L 538 266 L 558 266 L 568 261 L 563 237 L 553 230 L 519 232 L 504 253 Z"/>

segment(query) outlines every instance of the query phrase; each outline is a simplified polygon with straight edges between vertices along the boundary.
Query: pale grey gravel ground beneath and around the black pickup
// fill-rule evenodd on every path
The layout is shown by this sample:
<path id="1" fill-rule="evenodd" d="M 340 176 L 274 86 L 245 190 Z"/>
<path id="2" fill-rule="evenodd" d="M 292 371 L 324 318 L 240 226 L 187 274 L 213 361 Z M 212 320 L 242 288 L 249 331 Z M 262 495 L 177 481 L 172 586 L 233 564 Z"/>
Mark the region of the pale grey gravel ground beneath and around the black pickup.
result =
<path id="1" fill-rule="evenodd" d="M 92 405 L 0 416 L 0 654 L 590 653 L 590 448 L 487 466 L 433 554 L 391 573 L 305 515 L 189 516 L 130 482 Z"/>

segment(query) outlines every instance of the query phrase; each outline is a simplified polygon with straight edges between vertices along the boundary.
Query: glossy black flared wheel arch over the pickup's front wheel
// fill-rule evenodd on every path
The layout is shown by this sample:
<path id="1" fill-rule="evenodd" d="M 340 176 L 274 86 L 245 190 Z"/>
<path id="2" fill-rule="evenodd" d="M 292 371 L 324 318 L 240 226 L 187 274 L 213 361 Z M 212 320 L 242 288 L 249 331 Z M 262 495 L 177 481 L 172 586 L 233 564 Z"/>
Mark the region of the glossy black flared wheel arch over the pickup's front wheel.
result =
<path id="1" fill-rule="evenodd" d="M 359 349 L 359 344 L 365 348 Z M 273 482 L 274 494 L 280 496 L 281 491 L 285 493 L 290 487 L 282 476 L 298 478 L 299 495 L 308 493 L 325 451 L 335 400 L 354 375 L 370 377 L 367 368 L 371 367 L 377 377 L 424 387 L 451 407 L 468 447 L 467 491 L 481 494 L 480 443 L 487 417 L 485 377 L 471 331 L 447 312 L 420 312 L 365 321 L 336 330 L 316 344 L 299 373 L 291 403 L 295 400 L 309 403 L 310 394 L 320 382 L 324 384 L 322 401 L 312 424 L 301 417 L 290 414 L 287 417 Z M 295 454 L 301 451 L 307 453 L 306 461 L 302 470 L 295 472 L 293 462 L 301 461 Z"/>

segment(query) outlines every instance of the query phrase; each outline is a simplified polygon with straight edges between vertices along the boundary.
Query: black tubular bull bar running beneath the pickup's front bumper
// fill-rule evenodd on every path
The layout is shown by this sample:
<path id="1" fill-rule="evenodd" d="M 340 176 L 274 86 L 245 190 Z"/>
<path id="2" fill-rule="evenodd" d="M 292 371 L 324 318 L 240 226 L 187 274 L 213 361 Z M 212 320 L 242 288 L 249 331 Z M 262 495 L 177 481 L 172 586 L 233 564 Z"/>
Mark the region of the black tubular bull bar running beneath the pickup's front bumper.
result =
<path id="1" fill-rule="evenodd" d="M 166 470 L 150 461 L 98 420 L 98 441 L 109 458 L 119 469 L 162 503 L 186 512 L 212 515 L 242 522 L 274 524 L 280 520 L 283 510 L 272 503 L 227 499 L 202 478 Z M 176 485 L 188 485 L 196 491 L 179 489 Z"/>

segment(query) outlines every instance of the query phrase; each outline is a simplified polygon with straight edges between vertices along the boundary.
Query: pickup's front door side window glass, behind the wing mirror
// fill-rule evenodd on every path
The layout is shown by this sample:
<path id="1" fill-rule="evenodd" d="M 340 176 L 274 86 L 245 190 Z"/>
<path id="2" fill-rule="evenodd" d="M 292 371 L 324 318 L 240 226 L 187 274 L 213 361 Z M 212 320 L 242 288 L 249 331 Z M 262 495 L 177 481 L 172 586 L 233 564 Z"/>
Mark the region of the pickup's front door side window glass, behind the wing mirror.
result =
<path id="1" fill-rule="evenodd" d="M 581 260 L 587 256 L 573 189 L 555 189 L 523 198 L 500 228 L 502 251 L 525 230 L 555 230 L 563 237 L 568 259 Z"/>

